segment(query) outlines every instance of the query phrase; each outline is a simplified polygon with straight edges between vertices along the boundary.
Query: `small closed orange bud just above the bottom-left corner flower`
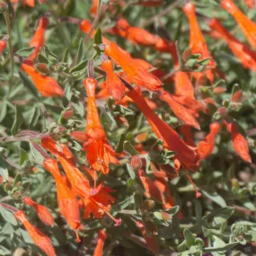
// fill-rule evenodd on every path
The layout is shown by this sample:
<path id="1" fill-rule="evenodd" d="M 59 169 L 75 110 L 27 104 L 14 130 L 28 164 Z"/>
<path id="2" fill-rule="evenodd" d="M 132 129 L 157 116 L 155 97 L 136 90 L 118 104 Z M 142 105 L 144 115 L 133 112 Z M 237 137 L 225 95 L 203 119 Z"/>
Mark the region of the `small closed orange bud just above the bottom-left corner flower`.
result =
<path id="1" fill-rule="evenodd" d="M 37 202 L 33 201 L 30 197 L 25 197 L 22 199 L 24 204 L 31 206 L 35 209 L 37 212 L 40 220 L 45 224 L 45 225 L 50 225 L 51 227 L 54 226 L 54 218 L 50 214 L 49 209 L 47 207 L 44 207 Z"/>

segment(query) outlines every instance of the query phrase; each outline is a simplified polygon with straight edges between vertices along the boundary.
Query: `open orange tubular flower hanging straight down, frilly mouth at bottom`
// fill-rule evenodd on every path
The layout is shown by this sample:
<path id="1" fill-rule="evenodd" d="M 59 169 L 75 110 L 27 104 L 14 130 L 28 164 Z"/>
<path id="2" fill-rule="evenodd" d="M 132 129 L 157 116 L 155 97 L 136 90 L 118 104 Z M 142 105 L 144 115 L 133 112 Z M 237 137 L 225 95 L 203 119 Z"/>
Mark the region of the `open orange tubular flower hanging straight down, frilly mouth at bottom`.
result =
<path id="1" fill-rule="evenodd" d="M 109 163 L 119 164 L 119 161 L 102 128 L 95 101 L 96 85 L 97 81 L 94 78 L 84 80 L 88 97 L 85 131 L 88 140 L 84 142 L 84 151 L 86 151 L 86 159 L 93 166 L 93 169 L 107 174 L 110 172 Z"/>

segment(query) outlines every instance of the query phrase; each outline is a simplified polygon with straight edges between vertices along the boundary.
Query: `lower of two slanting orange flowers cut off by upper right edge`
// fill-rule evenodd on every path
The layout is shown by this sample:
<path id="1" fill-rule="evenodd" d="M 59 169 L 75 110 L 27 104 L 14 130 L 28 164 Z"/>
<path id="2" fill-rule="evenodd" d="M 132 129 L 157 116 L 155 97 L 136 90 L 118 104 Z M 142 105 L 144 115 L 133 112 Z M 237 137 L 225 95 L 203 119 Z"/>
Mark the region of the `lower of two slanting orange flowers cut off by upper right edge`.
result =
<path id="1" fill-rule="evenodd" d="M 238 57 L 244 67 L 256 71 L 256 52 L 247 47 L 241 41 L 234 38 L 233 35 L 226 31 L 220 22 L 213 19 L 209 22 L 209 27 L 217 31 L 222 39 L 225 39 L 229 48 L 233 51 L 234 55 Z"/>

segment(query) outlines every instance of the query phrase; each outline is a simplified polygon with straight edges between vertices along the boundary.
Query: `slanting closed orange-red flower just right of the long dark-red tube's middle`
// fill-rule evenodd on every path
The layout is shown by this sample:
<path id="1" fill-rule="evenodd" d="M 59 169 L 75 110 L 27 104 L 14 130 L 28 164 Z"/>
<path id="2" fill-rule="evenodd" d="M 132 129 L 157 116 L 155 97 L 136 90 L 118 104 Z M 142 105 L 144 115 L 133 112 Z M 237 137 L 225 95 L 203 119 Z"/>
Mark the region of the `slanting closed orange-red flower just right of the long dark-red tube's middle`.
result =
<path id="1" fill-rule="evenodd" d="M 187 108 L 183 107 L 179 102 L 174 101 L 170 93 L 163 92 L 160 99 L 168 103 L 175 116 L 181 119 L 184 124 L 200 129 L 198 121 L 190 114 Z"/>

